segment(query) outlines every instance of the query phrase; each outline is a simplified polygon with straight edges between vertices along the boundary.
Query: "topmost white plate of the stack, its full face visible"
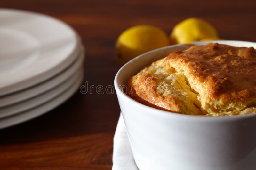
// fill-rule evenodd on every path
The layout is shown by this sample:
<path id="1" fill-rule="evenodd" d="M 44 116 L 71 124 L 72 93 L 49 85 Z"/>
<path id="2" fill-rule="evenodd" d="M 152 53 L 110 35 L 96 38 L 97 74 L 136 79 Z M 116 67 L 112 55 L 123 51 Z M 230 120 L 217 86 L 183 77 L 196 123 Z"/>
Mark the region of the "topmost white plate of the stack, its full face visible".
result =
<path id="1" fill-rule="evenodd" d="M 80 48 L 65 23 L 20 10 L 0 9 L 0 37 L 0 96 L 60 73 Z"/>

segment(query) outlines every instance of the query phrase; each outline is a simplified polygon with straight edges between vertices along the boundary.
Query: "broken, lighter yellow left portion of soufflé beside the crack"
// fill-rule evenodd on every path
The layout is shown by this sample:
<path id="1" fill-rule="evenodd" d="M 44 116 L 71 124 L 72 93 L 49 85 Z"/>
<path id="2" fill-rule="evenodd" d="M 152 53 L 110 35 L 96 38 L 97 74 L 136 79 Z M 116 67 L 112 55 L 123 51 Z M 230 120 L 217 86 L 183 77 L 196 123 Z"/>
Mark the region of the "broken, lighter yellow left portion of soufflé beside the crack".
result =
<path id="1" fill-rule="evenodd" d="M 191 91 L 183 74 L 166 67 L 164 59 L 133 76 L 127 85 L 127 94 L 134 100 L 161 110 L 175 113 L 201 114 L 195 105 L 197 95 Z"/>

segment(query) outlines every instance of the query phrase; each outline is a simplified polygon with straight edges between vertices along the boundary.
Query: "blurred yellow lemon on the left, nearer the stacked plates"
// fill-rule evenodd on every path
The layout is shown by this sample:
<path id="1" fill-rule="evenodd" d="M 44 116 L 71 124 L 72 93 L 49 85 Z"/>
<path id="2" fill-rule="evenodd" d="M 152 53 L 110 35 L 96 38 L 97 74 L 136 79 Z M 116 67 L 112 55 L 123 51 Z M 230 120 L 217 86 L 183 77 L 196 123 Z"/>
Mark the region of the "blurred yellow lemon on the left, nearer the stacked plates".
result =
<path id="1" fill-rule="evenodd" d="M 125 30 L 116 41 L 116 60 L 122 66 L 134 57 L 170 45 L 168 35 L 151 25 L 136 25 Z"/>

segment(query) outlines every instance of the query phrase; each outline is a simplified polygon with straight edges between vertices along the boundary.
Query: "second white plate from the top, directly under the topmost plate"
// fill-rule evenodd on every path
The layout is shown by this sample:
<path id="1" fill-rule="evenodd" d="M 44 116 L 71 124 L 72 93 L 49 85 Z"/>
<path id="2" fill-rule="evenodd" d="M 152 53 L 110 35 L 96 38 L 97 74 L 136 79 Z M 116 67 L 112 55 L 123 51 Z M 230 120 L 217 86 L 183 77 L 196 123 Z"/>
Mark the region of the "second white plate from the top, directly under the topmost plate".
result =
<path id="1" fill-rule="evenodd" d="M 67 80 L 72 74 L 74 74 L 78 70 L 78 68 L 81 67 L 81 65 L 83 64 L 83 61 L 84 61 L 84 50 L 82 48 L 81 53 L 78 56 L 78 58 L 76 59 L 76 61 L 74 63 L 72 63 L 71 66 L 66 68 L 60 74 L 52 77 L 49 80 L 39 83 L 35 86 L 29 87 L 27 89 L 24 89 L 24 90 L 15 92 L 15 93 L 11 93 L 9 95 L 1 96 L 0 97 L 0 110 L 1 110 L 1 107 L 6 107 L 11 104 L 15 104 L 15 103 L 24 101 L 26 99 L 40 95 L 40 94 L 56 87 L 60 83 Z M 1 117 L 1 115 L 0 115 L 0 117 Z"/>

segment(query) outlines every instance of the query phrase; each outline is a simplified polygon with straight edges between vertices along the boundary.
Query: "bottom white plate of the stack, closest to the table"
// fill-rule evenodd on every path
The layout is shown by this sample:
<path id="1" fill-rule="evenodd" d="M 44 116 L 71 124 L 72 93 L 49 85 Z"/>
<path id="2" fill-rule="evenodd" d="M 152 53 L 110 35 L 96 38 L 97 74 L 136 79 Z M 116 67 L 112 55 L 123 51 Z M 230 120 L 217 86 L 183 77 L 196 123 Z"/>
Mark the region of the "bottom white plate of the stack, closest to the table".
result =
<path id="1" fill-rule="evenodd" d="M 71 97 L 76 90 L 79 88 L 84 78 L 84 74 L 81 74 L 69 89 L 65 90 L 62 94 L 55 97 L 54 99 L 36 107 L 31 110 L 25 111 L 23 113 L 19 113 L 10 117 L 5 117 L 0 119 L 0 129 L 19 124 L 30 120 L 32 118 L 38 117 L 54 108 L 59 106 L 61 103 L 65 102 L 69 97 Z"/>

